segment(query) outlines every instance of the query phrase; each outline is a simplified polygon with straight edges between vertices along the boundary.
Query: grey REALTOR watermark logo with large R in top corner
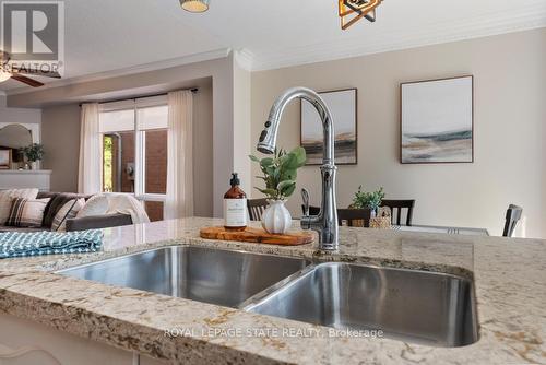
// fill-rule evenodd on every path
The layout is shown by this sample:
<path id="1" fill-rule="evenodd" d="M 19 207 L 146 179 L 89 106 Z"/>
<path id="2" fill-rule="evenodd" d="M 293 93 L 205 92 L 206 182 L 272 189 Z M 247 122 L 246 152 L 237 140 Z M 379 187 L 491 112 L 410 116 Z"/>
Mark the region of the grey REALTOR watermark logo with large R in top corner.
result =
<path id="1" fill-rule="evenodd" d="M 0 49 L 11 66 L 60 72 L 64 61 L 64 2 L 0 0 Z"/>

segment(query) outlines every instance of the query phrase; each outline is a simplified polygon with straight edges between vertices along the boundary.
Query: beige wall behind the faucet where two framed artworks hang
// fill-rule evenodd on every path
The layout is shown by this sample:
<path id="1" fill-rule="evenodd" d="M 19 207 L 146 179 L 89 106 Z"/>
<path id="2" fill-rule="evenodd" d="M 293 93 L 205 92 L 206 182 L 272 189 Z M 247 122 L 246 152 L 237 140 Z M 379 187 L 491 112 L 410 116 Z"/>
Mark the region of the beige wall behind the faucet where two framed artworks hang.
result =
<path id="1" fill-rule="evenodd" d="M 520 234 L 546 237 L 545 64 L 542 28 L 256 72 L 252 145 L 285 89 L 358 87 L 358 165 L 339 168 L 340 207 L 351 202 L 360 184 L 367 189 L 383 186 L 390 199 L 417 200 L 415 224 L 486 227 L 499 235 L 508 204 L 517 203 L 525 215 Z M 464 74 L 473 74 L 475 83 L 475 163 L 401 165 L 399 84 Z M 294 103 L 281 123 L 280 145 L 299 143 L 299 103 Z M 259 170 L 254 166 L 252 172 Z M 319 202 L 317 167 L 305 167 L 298 186 L 308 187 L 312 203 Z M 300 202 L 299 192 L 289 202 L 296 216 Z"/>

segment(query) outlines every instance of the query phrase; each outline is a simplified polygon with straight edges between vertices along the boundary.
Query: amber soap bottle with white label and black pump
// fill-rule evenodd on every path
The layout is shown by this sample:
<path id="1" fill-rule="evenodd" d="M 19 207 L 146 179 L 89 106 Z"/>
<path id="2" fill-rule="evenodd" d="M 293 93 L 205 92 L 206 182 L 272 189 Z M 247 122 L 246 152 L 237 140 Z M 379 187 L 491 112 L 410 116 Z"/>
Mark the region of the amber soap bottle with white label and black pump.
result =
<path id="1" fill-rule="evenodd" d="M 247 195 L 239 187 L 237 173 L 232 174 L 232 188 L 224 195 L 224 227 L 228 231 L 245 231 L 247 227 Z"/>

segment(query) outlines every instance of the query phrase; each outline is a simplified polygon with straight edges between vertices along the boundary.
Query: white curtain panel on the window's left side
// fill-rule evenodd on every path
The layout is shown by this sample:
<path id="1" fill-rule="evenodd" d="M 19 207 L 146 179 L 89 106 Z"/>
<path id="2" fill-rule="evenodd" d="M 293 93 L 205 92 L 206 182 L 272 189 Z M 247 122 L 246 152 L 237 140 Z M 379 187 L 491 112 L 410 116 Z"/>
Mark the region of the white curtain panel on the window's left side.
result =
<path id="1" fill-rule="evenodd" d="M 83 104 L 78 192 L 86 195 L 100 192 L 102 165 L 103 141 L 98 132 L 98 104 Z"/>

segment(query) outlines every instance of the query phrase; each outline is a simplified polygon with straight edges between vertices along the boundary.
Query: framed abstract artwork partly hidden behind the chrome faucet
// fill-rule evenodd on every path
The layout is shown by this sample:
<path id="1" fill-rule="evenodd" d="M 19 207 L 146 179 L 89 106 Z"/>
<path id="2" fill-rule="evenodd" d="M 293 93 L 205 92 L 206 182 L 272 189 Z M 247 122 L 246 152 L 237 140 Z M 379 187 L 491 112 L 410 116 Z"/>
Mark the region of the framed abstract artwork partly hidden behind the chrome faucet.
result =
<path id="1" fill-rule="evenodd" d="M 321 92 L 319 95 L 332 113 L 335 132 L 335 164 L 357 164 L 357 90 Z M 322 122 L 317 109 L 301 101 L 301 146 L 307 153 L 307 165 L 322 164 Z"/>

